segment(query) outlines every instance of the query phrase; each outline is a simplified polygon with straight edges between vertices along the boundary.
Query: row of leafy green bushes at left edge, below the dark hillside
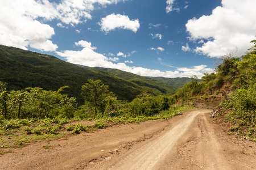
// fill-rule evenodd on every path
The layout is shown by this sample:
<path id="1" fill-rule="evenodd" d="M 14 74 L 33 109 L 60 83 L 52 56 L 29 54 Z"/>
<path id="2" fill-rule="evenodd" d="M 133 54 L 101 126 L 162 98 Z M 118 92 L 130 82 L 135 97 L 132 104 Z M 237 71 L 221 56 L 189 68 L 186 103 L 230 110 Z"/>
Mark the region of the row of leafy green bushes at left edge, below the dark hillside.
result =
<path id="1" fill-rule="evenodd" d="M 64 88 L 68 87 L 61 87 L 58 91 L 46 91 L 42 88 L 3 91 L 0 96 L 0 113 L 5 118 L 43 118 L 59 115 L 72 118 L 76 111 L 76 99 L 60 94 Z"/>

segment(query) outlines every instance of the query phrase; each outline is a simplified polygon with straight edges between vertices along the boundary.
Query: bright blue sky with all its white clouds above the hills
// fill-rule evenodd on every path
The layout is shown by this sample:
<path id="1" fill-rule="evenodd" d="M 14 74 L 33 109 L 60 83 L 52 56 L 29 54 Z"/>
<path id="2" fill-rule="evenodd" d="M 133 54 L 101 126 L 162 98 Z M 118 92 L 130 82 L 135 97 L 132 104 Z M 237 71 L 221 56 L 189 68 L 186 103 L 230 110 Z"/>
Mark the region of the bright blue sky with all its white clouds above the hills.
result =
<path id="1" fill-rule="evenodd" d="M 254 0 L 0 1 L 0 44 L 142 76 L 201 78 L 214 59 L 252 46 L 255 7 Z"/>

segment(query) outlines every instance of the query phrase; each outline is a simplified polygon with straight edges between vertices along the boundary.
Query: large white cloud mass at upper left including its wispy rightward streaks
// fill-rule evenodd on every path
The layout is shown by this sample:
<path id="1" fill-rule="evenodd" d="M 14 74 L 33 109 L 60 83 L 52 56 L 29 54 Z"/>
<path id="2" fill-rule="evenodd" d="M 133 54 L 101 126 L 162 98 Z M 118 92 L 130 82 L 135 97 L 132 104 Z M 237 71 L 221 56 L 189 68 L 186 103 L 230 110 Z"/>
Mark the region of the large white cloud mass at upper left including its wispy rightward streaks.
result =
<path id="1" fill-rule="evenodd" d="M 100 8 L 125 1 L 0 1 L 0 44 L 26 50 L 31 47 L 46 52 L 55 51 L 58 46 L 51 41 L 55 31 L 46 24 L 48 21 L 56 19 L 58 27 L 68 28 L 68 25 L 74 26 L 91 19 L 90 13 L 95 10 L 95 5 Z"/>

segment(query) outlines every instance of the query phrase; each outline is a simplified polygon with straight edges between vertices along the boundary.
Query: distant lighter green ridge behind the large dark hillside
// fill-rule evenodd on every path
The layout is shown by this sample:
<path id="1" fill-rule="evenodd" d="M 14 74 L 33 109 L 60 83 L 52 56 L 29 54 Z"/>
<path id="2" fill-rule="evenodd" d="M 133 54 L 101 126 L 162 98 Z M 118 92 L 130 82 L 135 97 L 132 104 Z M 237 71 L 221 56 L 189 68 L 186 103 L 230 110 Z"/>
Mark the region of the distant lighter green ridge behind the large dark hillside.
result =
<path id="1" fill-rule="evenodd" d="M 139 84 L 139 86 L 146 86 L 146 87 L 153 88 L 161 92 L 162 94 L 166 94 L 166 95 L 174 94 L 174 92 L 177 90 L 177 87 L 172 86 L 172 84 L 167 84 L 165 82 L 161 82 L 154 78 L 139 76 L 137 74 L 128 73 L 126 71 L 121 71 L 118 69 L 109 69 L 109 68 L 102 68 L 102 67 L 95 67 L 95 69 L 107 71 L 108 73 L 119 76 L 122 79 L 125 79 L 129 82 L 134 82 L 136 84 Z"/>

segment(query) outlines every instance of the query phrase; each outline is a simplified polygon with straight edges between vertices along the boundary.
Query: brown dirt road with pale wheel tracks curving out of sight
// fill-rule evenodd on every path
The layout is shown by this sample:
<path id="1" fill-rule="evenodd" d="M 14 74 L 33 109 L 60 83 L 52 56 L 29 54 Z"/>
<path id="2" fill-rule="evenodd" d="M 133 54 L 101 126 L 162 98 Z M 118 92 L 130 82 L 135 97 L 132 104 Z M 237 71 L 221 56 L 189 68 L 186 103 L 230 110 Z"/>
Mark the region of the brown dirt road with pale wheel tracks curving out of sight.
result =
<path id="1" fill-rule="evenodd" d="M 256 169 L 255 143 L 227 135 L 208 113 L 16 148 L 0 158 L 0 169 Z"/>

